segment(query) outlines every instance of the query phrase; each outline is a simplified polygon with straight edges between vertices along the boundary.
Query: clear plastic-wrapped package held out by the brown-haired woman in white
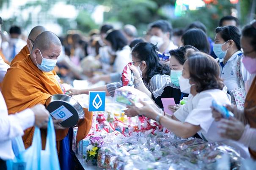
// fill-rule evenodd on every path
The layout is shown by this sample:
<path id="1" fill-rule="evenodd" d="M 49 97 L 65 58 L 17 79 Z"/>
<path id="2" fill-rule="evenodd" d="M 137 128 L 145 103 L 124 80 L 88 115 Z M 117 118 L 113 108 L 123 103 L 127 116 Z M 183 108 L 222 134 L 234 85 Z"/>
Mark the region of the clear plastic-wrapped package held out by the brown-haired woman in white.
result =
<path id="1" fill-rule="evenodd" d="M 132 103 L 129 101 L 132 100 L 137 107 L 142 107 L 140 100 L 153 104 L 153 101 L 149 98 L 149 96 L 130 86 L 124 86 L 116 89 L 115 100 L 126 105 L 132 105 Z"/>

